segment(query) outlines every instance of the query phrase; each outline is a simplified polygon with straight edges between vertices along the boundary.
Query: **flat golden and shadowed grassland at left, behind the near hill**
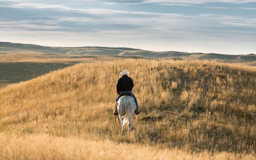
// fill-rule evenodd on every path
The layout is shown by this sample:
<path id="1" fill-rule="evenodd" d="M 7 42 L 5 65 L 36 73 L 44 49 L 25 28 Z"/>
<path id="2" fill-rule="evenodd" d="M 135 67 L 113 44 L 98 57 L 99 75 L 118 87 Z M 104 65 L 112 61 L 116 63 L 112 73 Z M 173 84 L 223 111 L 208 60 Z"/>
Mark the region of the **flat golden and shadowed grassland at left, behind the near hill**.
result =
<path id="1" fill-rule="evenodd" d="M 1 51 L 0 51 L 1 52 Z M 132 56 L 130 56 L 132 57 Z M 37 52 L 0 53 L 0 88 L 81 62 L 116 60 L 127 56 L 43 54 Z M 138 57 L 139 58 L 139 57 Z"/>

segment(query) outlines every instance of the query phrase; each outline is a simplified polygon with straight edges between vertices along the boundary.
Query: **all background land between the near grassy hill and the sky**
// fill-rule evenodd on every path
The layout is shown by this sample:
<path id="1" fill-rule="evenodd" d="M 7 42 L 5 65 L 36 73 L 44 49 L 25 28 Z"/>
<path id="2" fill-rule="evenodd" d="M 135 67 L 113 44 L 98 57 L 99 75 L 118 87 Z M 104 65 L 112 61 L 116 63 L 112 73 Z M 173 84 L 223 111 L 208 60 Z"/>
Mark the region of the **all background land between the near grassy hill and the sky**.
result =
<path id="1" fill-rule="evenodd" d="M 255 65 L 256 55 L 214 53 L 152 52 L 133 48 L 46 47 L 33 44 L 0 42 L 0 88 L 30 80 L 53 70 L 80 62 L 118 59 L 213 59 Z"/>

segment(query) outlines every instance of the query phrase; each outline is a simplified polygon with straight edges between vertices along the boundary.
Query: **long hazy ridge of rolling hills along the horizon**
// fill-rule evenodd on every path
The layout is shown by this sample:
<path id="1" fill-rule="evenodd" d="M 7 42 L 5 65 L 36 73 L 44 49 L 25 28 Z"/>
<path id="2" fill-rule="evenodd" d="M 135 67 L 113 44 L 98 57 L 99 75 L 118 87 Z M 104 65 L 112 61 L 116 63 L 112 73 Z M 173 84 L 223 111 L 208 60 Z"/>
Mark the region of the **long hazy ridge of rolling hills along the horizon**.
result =
<path id="1" fill-rule="evenodd" d="M 107 55 L 129 56 L 142 58 L 171 58 L 171 59 L 215 59 L 230 62 L 255 62 L 256 55 L 229 55 L 217 53 L 187 53 L 187 52 L 154 52 L 149 50 L 125 47 L 47 47 L 35 44 L 0 42 L 0 54 L 9 53 L 42 53 L 42 54 L 76 54 L 76 55 Z"/>

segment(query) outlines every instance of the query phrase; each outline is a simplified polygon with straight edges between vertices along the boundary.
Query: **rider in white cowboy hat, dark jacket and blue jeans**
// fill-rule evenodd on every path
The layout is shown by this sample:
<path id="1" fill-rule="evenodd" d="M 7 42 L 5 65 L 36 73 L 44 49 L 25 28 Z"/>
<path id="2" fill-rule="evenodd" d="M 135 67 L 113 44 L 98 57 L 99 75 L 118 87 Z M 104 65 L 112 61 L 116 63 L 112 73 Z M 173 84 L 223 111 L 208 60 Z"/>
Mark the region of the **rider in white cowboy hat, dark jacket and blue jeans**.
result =
<path id="1" fill-rule="evenodd" d="M 121 95 L 124 95 L 124 94 L 129 94 L 134 98 L 134 102 L 136 104 L 136 110 L 134 112 L 135 114 L 140 114 L 137 99 L 132 92 L 133 80 L 130 77 L 128 77 L 127 74 L 129 74 L 129 72 L 127 72 L 125 69 L 120 74 L 122 75 L 122 77 L 119 78 L 119 80 L 117 81 L 118 97 L 116 98 L 116 106 L 115 106 L 116 110 L 114 111 L 114 115 L 118 115 L 117 101 L 119 100 Z"/>

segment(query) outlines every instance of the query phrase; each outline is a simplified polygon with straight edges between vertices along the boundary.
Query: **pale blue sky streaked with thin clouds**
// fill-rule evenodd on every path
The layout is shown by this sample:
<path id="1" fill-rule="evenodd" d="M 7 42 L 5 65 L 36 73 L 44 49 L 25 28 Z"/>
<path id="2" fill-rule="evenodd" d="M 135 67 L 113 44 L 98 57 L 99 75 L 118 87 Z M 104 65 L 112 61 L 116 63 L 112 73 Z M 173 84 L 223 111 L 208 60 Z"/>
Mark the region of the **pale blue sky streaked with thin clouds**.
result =
<path id="1" fill-rule="evenodd" d="M 256 0 L 0 0 L 0 42 L 256 54 Z"/>

